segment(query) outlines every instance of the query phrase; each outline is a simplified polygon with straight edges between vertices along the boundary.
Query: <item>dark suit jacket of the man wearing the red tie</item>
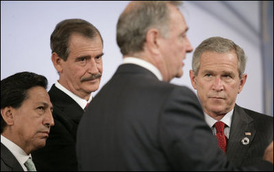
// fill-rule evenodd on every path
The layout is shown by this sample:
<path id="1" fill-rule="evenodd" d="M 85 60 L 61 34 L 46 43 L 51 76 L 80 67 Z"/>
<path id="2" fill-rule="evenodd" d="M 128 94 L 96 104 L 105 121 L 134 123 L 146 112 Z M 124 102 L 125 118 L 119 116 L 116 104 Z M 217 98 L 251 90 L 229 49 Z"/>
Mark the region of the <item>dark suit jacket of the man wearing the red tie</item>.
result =
<path id="1" fill-rule="evenodd" d="M 250 132 L 251 135 L 245 135 Z M 249 144 L 242 145 L 242 138 Z M 273 117 L 236 105 L 227 143 L 227 157 L 237 165 L 255 164 L 262 160 L 264 149 L 273 140 Z"/>

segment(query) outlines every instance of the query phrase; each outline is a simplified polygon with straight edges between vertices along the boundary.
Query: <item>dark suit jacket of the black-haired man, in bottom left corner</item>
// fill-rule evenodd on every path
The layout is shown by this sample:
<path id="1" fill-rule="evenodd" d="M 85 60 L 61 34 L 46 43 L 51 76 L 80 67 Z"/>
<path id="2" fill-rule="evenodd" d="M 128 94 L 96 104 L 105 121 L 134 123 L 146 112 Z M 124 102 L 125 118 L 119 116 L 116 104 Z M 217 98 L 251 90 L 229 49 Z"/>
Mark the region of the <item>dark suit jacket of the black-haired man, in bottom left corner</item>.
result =
<path id="1" fill-rule="evenodd" d="M 24 171 L 12 152 L 1 143 L 1 171 Z"/>

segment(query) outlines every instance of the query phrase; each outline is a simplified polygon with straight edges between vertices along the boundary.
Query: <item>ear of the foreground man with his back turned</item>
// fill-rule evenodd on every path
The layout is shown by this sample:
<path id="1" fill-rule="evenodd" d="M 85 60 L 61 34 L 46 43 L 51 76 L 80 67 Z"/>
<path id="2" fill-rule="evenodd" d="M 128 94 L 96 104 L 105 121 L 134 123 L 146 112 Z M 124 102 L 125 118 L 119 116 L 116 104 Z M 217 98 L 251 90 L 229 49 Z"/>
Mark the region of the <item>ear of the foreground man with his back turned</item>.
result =
<path id="1" fill-rule="evenodd" d="M 161 34 L 158 29 L 152 28 L 147 31 L 145 44 L 151 53 L 160 52 L 160 38 Z"/>

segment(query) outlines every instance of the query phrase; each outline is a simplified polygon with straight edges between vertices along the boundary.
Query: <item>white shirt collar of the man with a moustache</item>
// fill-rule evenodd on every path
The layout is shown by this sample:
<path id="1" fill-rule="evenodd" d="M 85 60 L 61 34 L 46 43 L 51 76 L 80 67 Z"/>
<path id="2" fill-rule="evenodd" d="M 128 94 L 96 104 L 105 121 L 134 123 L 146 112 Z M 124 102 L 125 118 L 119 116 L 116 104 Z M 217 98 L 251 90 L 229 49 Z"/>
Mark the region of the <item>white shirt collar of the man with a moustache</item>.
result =
<path id="1" fill-rule="evenodd" d="M 86 101 L 86 99 L 82 99 L 81 97 L 71 93 L 70 90 L 64 88 L 64 86 L 62 86 L 58 81 L 55 82 L 55 86 L 57 88 L 59 88 L 60 90 L 62 90 L 62 92 L 66 93 L 66 95 L 69 95 L 69 97 L 71 97 L 71 99 L 76 101 L 83 110 L 84 110 L 84 108 L 86 108 L 86 103 L 90 103 L 90 101 L 92 100 L 91 94 L 90 94 L 90 99 L 88 99 L 88 101 Z"/>

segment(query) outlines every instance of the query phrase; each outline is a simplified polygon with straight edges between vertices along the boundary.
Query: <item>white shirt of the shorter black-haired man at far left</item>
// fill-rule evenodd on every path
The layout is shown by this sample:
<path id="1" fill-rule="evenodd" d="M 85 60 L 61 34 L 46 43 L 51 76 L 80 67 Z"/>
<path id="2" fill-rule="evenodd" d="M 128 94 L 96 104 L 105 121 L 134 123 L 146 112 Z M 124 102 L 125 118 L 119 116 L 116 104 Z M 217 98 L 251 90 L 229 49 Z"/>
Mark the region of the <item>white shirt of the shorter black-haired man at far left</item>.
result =
<path id="1" fill-rule="evenodd" d="M 24 169 L 24 171 L 27 171 L 27 167 L 25 167 L 24 163 L 27 161 L 27 159 L 32 158 L 32 155 L 30 153 L 29 155 L 27 155 L 27 153 L 25 153 L 25 151 L 21 147 L 18 147 L 18 145 L 13 143 L 8 138 L 2 136 L 2 134 L 1 143 L 12 152 L 16 160 L 19 162 L 19 164 L 21 164 L 21 167 Z"/>

